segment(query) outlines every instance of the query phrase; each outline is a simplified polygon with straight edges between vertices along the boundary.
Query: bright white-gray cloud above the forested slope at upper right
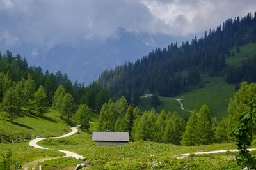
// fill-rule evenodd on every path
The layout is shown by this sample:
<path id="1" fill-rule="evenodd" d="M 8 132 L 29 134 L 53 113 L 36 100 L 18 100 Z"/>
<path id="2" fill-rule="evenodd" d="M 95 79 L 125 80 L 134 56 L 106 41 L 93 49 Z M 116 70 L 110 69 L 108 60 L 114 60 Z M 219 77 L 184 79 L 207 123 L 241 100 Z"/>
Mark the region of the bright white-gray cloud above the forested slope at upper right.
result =
<path id="1" fill-rule="evenodd" d="M 191 0 L 157 1 L 140 0 L 147 6 L 156 21 L 162 22 L 154 31 L 175 35 L 198 34 L 216 27 L 228 18 L 243 16 L 255 10 L 256 1 Z"/>

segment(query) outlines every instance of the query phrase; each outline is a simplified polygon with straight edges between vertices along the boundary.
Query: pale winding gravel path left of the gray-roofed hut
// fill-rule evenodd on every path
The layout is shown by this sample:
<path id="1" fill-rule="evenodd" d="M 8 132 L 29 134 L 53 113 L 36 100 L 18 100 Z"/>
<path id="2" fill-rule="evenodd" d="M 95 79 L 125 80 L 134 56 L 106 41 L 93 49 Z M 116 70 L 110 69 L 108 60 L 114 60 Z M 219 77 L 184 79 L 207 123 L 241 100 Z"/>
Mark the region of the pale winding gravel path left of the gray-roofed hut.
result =
<path id="1" fill-rule="evenodd" d="M 42 146 L 39 146 L 37 143 L 39 141 L 42 141 L 44 139 L 50 139 L 50 138 L 64 138 L 67 136 L 70 136 L 72 134 L 75 134 L 78 131 L 78 127 L 79 125 L 76 125 L 75 127 L 71 127 L 72 132 L 68 133 L 68 134 L 63 134 L 62 136 L 56 136 L 56 137 L 49 137 L 49 138 L 35 138 L 32 141 L 29 142 L 29 146 L 33 146 L 34 148 L 39 148 L 39 149 L 43 149 L 43 150 L 48 150 L 49 148 L 44 148 Z M 81 155 L 78 155 L 77 153 L 74 152 L 70 152 L 68 150 L 58 150 L 60 152 L 65 153 L 66 155 L 63 157 L 74 157 L 76 159 L 83 159 L 84 157 Z M 44 159 L 38 159 L 38 160 L 34 160 L 32 162 L 29 162 L 28 164 L 22 166 L 23 169 L 28 169 L 28 167 L 32 167 L 32 169 L 35 169 L 37 164 L 40 162 L 44 162 L 45 160 L 51 160 L 51 159 L 58 159 L 61 157 L 52 157 L 52 158 L 44 158 Z"/>

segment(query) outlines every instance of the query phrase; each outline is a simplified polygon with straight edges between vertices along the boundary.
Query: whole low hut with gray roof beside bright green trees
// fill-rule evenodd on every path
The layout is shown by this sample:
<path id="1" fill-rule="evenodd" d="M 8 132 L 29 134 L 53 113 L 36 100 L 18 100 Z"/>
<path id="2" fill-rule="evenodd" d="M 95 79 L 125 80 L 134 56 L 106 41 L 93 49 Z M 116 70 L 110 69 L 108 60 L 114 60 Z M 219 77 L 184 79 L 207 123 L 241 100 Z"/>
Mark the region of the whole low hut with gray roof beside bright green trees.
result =
<path id="1" fill-rule="evenodd" d="M 128 132 L 92 132 L 92 141 L 96 145 L 123 145 L 128 143 Z"/>

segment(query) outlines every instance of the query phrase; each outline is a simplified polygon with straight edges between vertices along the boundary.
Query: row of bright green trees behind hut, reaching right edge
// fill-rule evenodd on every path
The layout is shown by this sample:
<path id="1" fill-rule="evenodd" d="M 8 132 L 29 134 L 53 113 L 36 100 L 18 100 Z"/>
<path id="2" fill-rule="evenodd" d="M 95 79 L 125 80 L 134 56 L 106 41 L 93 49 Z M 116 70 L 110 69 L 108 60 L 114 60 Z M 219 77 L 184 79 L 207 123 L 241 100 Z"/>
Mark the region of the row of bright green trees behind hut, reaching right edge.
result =
<path id="1" fill-rule="evenodd" d="M 212 143 L 227 143 L 230 132 L 236 126 L 243 111 L 248 110 L 250 103 L 256 103 L 256 84 L 242 83 L 228 104 L 228 117 L 220 122 L 211 116 L 207 105 L 199 111 L 193 110 L 188 122 L 175 111 L 161 113 L 152 108 L 141 113 L 138 107 L 129 106 L 124 96 L 114 102 L 109 99 L 104 103 L 98 122 L 91 131 L 129 132 L 132 141 L 155 141 L 175 145 L 195 146 Z M 253 95 L 252 95 L 253 94 Z"/>

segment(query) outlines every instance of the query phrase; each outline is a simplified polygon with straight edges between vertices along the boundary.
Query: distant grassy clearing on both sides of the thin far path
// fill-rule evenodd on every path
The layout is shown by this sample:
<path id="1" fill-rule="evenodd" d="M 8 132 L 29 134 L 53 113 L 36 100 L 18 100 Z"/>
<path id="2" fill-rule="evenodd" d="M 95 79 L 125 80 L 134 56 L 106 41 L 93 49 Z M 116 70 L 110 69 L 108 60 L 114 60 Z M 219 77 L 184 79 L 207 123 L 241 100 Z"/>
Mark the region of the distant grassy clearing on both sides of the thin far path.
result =
<path id="1" fill-rule="evenodd" d="M 185 94 L 175 97 L 159 97 L 161 103 L 157 106 L 157 111 L 160 113 L 162 109 L 165 111 L 177 111 L 179 115 L 188 120 L 190 113 L 180 109 L 180 103 L 175 99 L 182 99 L 182 104 L 187 110 L 196 109 L 199 111 L 203 104 L 207 104 L 211 108 L 214 117 L 219 120 L 227 116 L 227 107 L 230 97 L 233 96 L 234 85 L 225 83 L 224 78 L 204 78 L 204 87 L 192 89 Z M 142 111 L 150 110 L 151 99 L 147 97 L 140 97 L 139 108 Z"/>

